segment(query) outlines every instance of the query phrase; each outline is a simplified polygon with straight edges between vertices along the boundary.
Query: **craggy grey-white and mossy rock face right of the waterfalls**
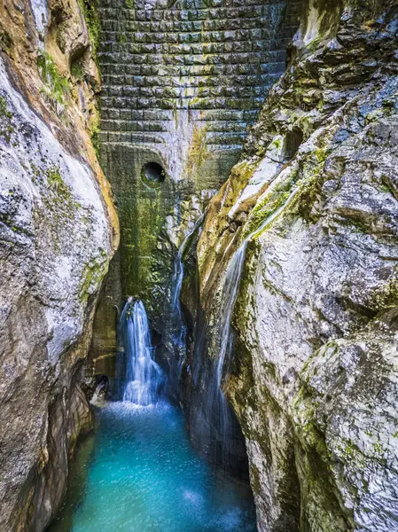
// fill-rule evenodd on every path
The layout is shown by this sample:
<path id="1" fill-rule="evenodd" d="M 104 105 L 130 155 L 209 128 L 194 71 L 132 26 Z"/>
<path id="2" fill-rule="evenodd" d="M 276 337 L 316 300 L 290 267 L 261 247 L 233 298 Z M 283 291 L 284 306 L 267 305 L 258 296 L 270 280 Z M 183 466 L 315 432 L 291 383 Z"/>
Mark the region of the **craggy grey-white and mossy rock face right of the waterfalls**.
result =
<path id="1" fill-rule="evenodd" d="M 199 239 L 207 356 L 225 271 L 248 238 L 222 387 L 258 528 L 394 530 L 398 11 L 311 0 L 305 13 Z"/>

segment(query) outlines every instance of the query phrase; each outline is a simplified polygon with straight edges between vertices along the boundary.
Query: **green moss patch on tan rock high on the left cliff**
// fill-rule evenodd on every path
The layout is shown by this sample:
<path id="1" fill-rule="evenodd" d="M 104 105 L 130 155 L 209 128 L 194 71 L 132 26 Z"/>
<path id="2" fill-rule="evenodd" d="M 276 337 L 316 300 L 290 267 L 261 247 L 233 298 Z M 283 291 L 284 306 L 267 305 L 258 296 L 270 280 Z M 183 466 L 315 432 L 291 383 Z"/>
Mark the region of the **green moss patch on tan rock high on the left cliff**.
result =
<path id="1" fill-rule="evenodd" d="M 54 59 L 46 51 L 37 58 L 37 66 L 44 82 L 41 92 L 53 110 L 61 116 L 65 112 L 66 102 L 70 95 L 69 82 L 65 76 L 59 74 Z"/>

